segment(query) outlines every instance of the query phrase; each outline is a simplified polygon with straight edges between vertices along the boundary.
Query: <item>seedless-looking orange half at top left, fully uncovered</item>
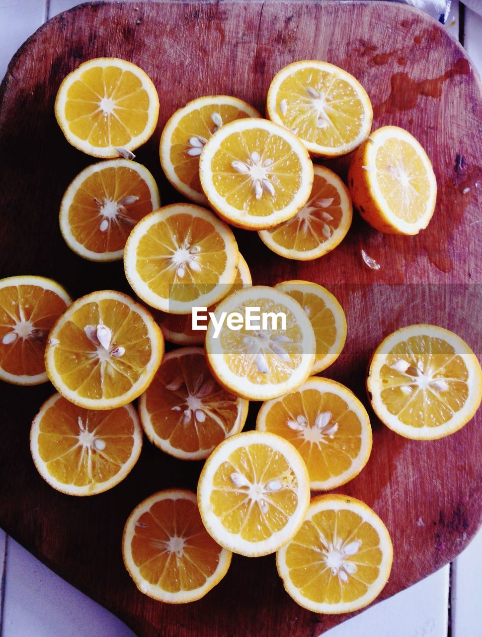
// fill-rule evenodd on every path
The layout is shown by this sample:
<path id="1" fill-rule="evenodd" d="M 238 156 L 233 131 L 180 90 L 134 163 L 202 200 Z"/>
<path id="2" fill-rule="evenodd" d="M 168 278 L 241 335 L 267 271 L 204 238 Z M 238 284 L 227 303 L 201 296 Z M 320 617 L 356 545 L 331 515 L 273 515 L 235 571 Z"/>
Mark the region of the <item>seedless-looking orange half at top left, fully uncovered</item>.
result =
<path id="1" fill-rule="evenodd" d="M 141 146 L 153 134 L 158 115 L 159 98 L 146 73 L 115 57 L 83 62 L 55 98 L 65 138 L 93 157 L 119 157 Z"/>

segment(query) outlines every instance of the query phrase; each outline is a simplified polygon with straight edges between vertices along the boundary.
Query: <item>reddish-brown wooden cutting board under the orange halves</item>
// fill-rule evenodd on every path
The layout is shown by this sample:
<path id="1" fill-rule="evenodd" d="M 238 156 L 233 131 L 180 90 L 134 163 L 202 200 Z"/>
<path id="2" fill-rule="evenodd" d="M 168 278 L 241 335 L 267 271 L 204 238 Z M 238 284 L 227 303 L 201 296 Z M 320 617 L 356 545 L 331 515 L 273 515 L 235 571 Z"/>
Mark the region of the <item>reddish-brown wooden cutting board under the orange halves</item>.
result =
<path id="1" fill-rule="evenodd" d="M 353 73 L 374 104 L 374 126 L 405 127 L 427 148 L 439 184 L 434 218 L 416 238 L 376 233 L 355 218 L 340 247 L 305 264 L 269 252 L 256 233 L 236 231 L 254 282 L 304 278 L 338 296 L 348 339 L 326 375 L 365 403 L 369 356 L 397 327 L 433 322 L 480 354 L 481 87 L 464 50 L 441 25 L 400 4 L 272 0 L 85 4 L 43 25 L 15 55 L 1 87 L 0 276 L 52 276 L 74 297 L 129 291 L 121 263 L 92 264 L 74 255 L 57 220 L 65 187 L 93 160 L 64 140 L 53 101 L 62 78 L 98 56 L 135 62 L 155 82 L 159 124 L 137 159 L 157 178 L 164 203 L 179 201 L 158 161 L 160 132 L 176 108 L 223 93 L 262 111 L 275 72 L 297 59 L 327 60 Z M 330 165 L 346 174 L 347 159 Z M 380 270 L 364 265 L 361 248 Z M 176 461 L 146 442 L 134 471 L 110 492 L 86 498 L 55 492 L 29 455 L 32 417 L 50 394 L 50 385 L 1 385 L 0 525 L 139 636 L 308 637 L 347 619 L 297 606 L 284 592 L 273 555 L 235 556 L 223 582 L 188 606 L 142 596 L 123 568 L 123 524 L 158 489 L 195 489 L 200 463 Z M 248 427 L 256 411 L 252 403 Z M 476 533 L 482 423 L 479 413 L 453 436 L 423 443 L 404 440 L 370 413 L 371 459 L 340 490 L 372 506 L 392 534 L 394 566 L 383 599 L 451 561 Z"/>

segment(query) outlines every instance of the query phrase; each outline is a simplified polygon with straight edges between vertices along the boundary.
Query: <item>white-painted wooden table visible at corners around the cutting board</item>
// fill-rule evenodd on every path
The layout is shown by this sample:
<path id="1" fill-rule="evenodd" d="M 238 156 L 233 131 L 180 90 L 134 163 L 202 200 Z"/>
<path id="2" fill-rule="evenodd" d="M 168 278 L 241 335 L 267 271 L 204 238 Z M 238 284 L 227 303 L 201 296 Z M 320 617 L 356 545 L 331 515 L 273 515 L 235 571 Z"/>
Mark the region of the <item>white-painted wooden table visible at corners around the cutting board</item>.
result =
<path id="1" fill-rule="evenodd" d="M 0 0 L 0 78 L 18 47 L 77 0 Z M 482 74 L 482 17 L 453 0 L 448 31 Z M 482 152 L 482 150 L 481 150 Z M 482 532 L 450 566 L 326 637 L 481 637 Z M 120 620 L 0 530 L 0 637 L 132 637 Z"/>

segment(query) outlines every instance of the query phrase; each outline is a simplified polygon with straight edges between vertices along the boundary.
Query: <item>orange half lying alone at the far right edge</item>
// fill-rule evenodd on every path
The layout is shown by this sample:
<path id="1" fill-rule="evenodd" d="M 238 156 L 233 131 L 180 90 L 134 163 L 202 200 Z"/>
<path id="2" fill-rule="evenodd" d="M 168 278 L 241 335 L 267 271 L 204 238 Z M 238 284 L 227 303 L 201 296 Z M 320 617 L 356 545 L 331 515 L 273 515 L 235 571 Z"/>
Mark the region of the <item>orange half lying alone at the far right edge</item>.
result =
<path id="1" fill-rule="evenodd" d="M 482 371 L 457 334 L 434 325 L 402 327 L 376 348 L 368 396 L 382 422 L 414 440 L 435 440 L 463 427 L 479 408 Z"/>

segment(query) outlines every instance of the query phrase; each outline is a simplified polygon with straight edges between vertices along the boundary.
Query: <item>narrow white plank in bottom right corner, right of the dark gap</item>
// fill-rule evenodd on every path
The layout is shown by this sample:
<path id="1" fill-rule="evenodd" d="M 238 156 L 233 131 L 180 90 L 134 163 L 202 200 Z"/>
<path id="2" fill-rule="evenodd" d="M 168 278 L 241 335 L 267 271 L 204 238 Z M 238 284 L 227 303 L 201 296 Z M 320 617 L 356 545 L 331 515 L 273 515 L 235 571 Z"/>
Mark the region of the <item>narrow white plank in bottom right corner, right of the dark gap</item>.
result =
<path id="1" fill-rule="evenodd" d="M 452 637 L 480 637 L 482 529 L 452 566 Z"/>

